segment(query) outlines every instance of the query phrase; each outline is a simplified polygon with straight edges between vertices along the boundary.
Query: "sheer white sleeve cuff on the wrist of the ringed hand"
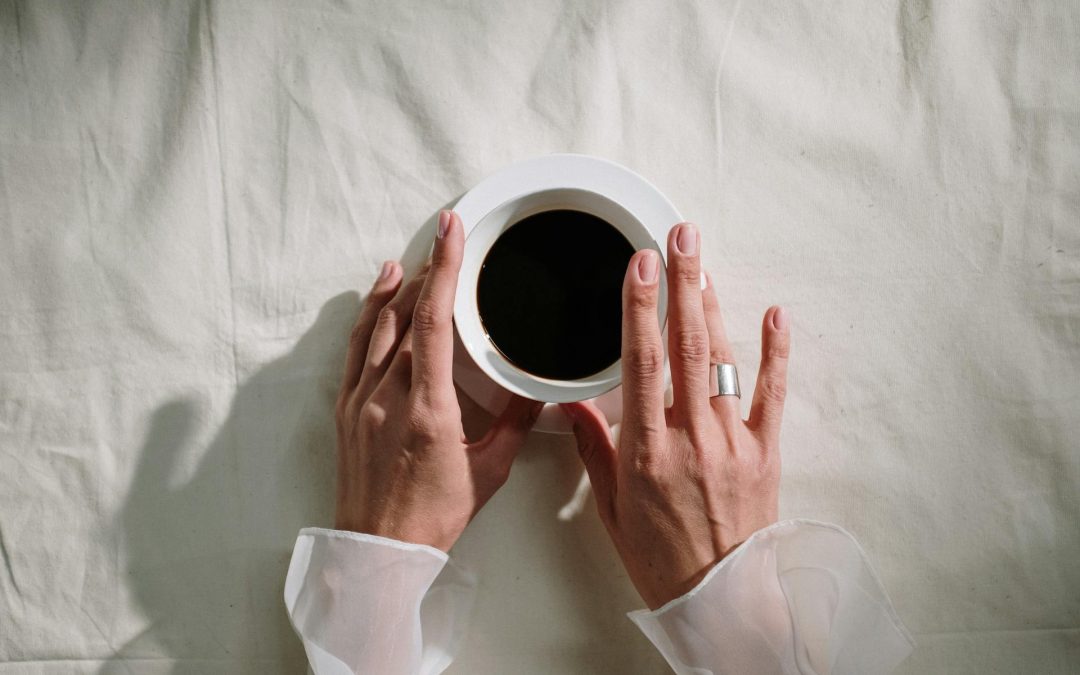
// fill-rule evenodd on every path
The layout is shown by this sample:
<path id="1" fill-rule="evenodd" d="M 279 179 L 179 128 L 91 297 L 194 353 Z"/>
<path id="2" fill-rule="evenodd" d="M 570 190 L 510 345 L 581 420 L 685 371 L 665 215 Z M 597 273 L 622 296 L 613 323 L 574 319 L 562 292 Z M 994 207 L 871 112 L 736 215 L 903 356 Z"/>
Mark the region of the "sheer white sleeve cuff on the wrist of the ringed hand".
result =
<path id="1" fill-rule="evenodd" d="M 813 521 L 756 532 L 692 591 L 630 618 L 680 675 L 873 675 L 914 646 L 854 538 Z"/>

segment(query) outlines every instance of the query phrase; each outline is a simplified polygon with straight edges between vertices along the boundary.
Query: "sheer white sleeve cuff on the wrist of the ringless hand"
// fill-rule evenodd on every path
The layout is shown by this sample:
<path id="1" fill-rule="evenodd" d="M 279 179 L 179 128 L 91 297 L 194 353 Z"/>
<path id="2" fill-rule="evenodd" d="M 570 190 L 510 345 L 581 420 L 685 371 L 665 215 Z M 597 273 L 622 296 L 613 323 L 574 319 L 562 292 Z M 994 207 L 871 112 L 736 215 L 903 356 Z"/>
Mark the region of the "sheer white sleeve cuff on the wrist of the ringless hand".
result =
<path id="1" fill-rule="evenodd" d="M 434 675 L 457 652 L 475 585 L 437 549 L 306 528 L 285 606 L 315 675 Z"/>

